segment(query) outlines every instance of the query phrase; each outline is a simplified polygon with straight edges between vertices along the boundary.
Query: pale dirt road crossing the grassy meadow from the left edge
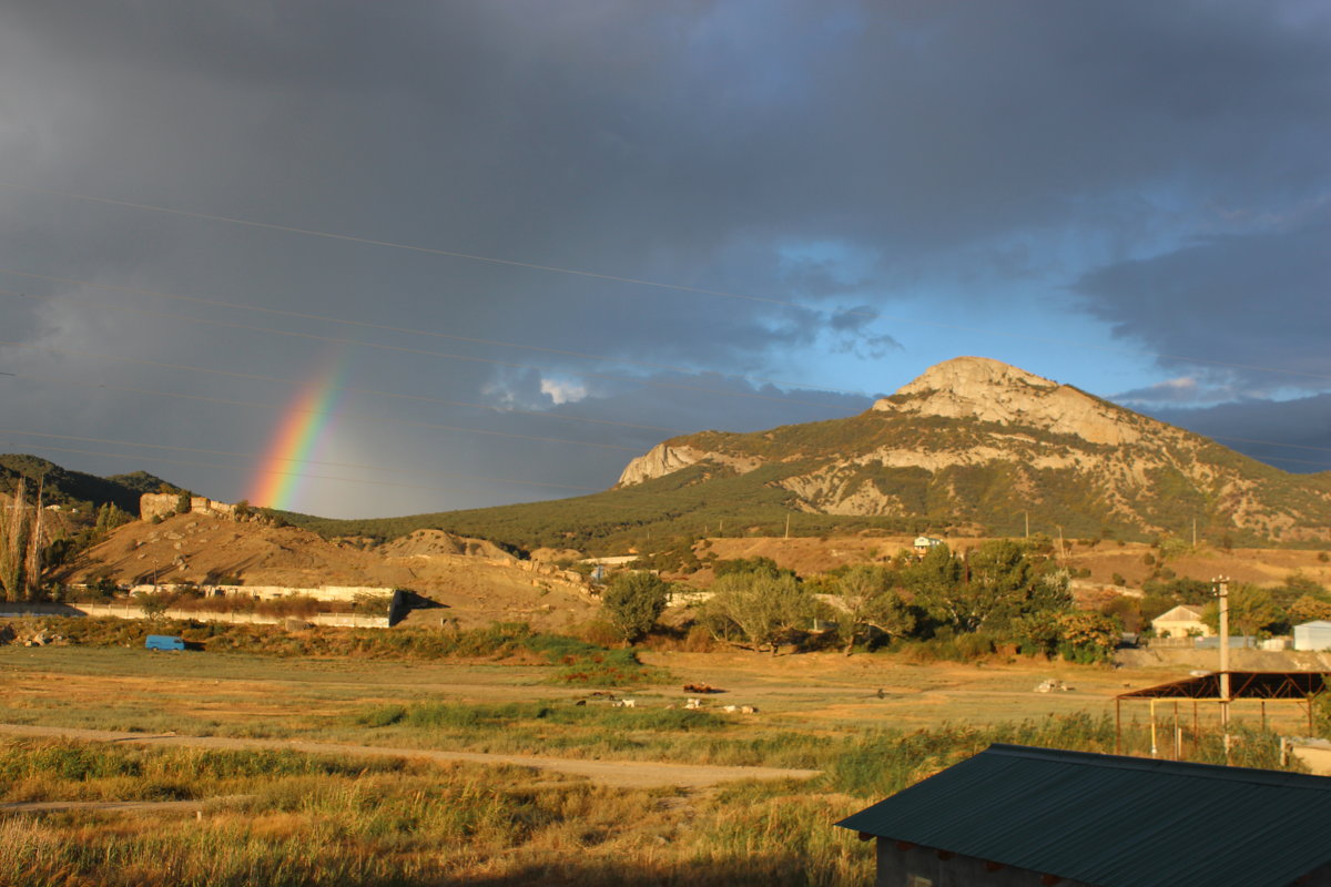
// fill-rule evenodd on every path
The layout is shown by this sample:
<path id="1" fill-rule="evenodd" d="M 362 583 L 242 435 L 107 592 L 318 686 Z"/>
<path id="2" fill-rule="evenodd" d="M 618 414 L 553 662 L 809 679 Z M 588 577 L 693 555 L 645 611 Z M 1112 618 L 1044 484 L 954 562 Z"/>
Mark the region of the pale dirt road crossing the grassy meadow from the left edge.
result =
<path id="1" fill-rule="evenodd" d="M 333 742 L 303 742 L 299 739 L 241 739 L 232 737 L 188 737 L 176 734 L 152 735 L 120 733 L 116 730 L 79 730 L 73 727 L 39 727 L 0 723 L 0 733 L 23 737 L 63 737 L 91 742 L 132 742 L 134 745 L 177 745 L 200 749 L 290 749 L 309 754 L 383 755 L 418 758 L 451 763 L 507 763 L 550 773 L 586 777 L 603 786 L 620 789 L 655 789 L 673 786 L 705 789 L 737 779 L 808 779 L 817 770 L 781 770 L 777 767 L 713 767 L 689 763 L 656 763 L 651 761 L 579 761 L 572 758 L 546 758 L 527 754 L 484 754 L 479 751 L 441 751 L 435 749 L 386 749 L 382 746 L 342 745 Z"/>

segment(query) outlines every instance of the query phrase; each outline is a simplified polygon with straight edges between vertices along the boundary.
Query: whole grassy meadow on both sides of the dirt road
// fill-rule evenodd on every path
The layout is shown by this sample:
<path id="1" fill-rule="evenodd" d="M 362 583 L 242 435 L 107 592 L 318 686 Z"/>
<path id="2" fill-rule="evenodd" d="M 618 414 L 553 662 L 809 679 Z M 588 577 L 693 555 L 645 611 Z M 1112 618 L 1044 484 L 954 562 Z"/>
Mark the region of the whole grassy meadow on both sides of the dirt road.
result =
<path id="1" fill-rule="evenodd" d="M 837 819 L 990 742 L 1113 751 L 1114 694 L 1178 677 L 1177 669 L 998 657 L 644 652 L 619 673 L 623 682 L 603 686 L 570 680 L 571 664 L 583 668 L 600 653 L 564 641 L 510 637 L 445 657 L 357 652 L 354 644 L 317 654 L 218 648 L 0 648 L 0 722 L 338 742 L 347 753 L 0 733 L 0 882 L 868 883 L 872 846 L 835 828 Z M 1034 693 L 1045 678 L 1075 689 Z M 725 692 L 685 710 L 691 694 L 681 685 L 692 681 Z M 636 707 L 612 707 L 624 697 Z M 727 713 L 728 703 L 759 711 Z M 1268 707 L 1272 726 L 1298 731 L 1292 706 Z M 1187 757 L 1223 759 L 1206 714 L 1198 735 L 1187 715 Z M 1145 717 L 1145 706 L 1125 706 L 1125 750 L 1149 753 Z M 1235 763 L 1276 766 L 1274 734 L 1252 729 L 1254 717 L 1238 718 L 1246 726 Z M 371 757 L 358 745 L 403 751 Z M 623 789 L 411 757 L 430 749 L 821 773 L 701 790 Z M 3 809 L 112 801 L 192 801 L 200 813 Z"/>

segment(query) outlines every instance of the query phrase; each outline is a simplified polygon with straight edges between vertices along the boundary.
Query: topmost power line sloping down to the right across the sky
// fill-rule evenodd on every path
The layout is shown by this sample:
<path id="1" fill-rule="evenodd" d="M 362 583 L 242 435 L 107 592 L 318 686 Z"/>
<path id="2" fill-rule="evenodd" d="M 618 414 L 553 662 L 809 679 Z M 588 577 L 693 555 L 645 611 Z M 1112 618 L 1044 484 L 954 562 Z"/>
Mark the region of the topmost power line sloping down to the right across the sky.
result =
<path id="1" fill-rule="evenodd" d="M 331 233 L 331 231 L 319 231 L 319 230 L 315 230 L 315 229 L 297 227 L 297 226 L 293 226 L 293 225 L 277 225 L 277 223 L 272 223 L 272 222 L 257 222 L 257 221 L 253 221 L 253 219 L 236 218 L 236 217 L 232 217 L 232 215 L 218 215 L 218 214 L 213 214 L 213 213 L 197 213 L 197 211 L 182 210 L 182 209 L 176 209 L 176 207 L 170 207 L 170 206 L 161 206 L 161 205 L 154 205 L 154 203 L 140 203 L 140 202 L 133 202 L 133 201 L 114 199 L 114 198 L 109 198 L 109 197 L 95 197 L 95 195 L 91 195 L 91 194 L 77 194 L 77 193 L 73 193 L 73 191 L 65 191 L 65 190 L 53 189 L 53 188 L 39 188 L 39 186 L 35 186 L 35 185 L 15 185 L 15 184 L 11 184 L 11 182 L 0 182 L 0 188 L 9 188 L 9 189 L 15 189 L 15 190 L 24 190 L 24 191 L 31 191 L 31 193 L 37 193 L 37 194 L 51 194 L 53 197 L 63 197 L 63 198 L 67 198 L 67 199 L 76 199 L 76 201 L 87 201 L 87 202 L 91 202 L 91 203 L 104 203 L 104 205 L 108 205 L 108 206 L 122 206 L 122 207 L 136 209 L 136 210 L 148 211 L 148 213 L 164 213 L 164 214 L 180 215 L 180 217 L 185 217 L 185 218 L 196 218 L 196 219 L 209 221 L 209 222 L 225 222 L 228 225 L 242 225 L 242 226 L 248 226 L 248 227 L 257 227 L 257 229 L 264 229 L 264 230 L 270 230 L 270 231 L 282 231 L 282 233 L 286 233 L 286 234 L 301 234 L 301 235 L 305 235 L 305 237 L 317 237 L 317 238 L 325 238 L 325 239 L 333 239 L 333 241 L 342 241 L 342 242 L 350 242 L 350 243 L 362 243 L 362 245 L 366 245 L 366 246 L 375 246 L 375 247 L 383 247 L 383 249 L 406 250 L 406 251 L 411 251 L 411 253 L 423 253 L 423 254 L 429 254 L 429 255 L 441 255 L 441 257 L 446 257 L 446 258 L 466 259 L 469 262 L 482 262 L 482 263 L 487 263 L 487 265 L 500 265 L 500 266 L 507 266 L 507 267 L 520 267 L 520 269 L 528 269 L 528 270 L 535 270 L 535 271 L 547 271 L 547 273 L 552 273 L 552 274 L 564 274 L 564 275 L 572 275 L 572 277 L 583 277 L 583 278 L 592 278 L 592 279 L 599 279 L 599 281 L 608 281 L 608 282 L 614 282 L 614 283 L 628 283 L 628 285 L 632 285 L 632 286 L 646 286 L 646 287 L 654 287 L 654 289 L 660 289 L 660 290 L 672 290 L 672 291 L 676 291 L 676 293 L 693 293 L 693 294 L 699 294 L 699 295 L 712 295 L 712 297 L 719 297 L 719 298 L 740 299 L 740 301 L 745 301 L 745 302 L 756 302 L 756 303 L 763 303 L 763 305 L 773 305 L 773 306 L 780 306 L 780 307 L 796 309 L 796 310 L 800 310 L 800 311 L 816 311 L 816 309 L 812 309 L 812 307 L 809 307 L 807 305 L 801 305 L 799 302 L 793 302 L 791 299 L 777 299 L 777 298 L 772 298 L 772 297 L 753 295 L 753 294 L 748 294 L 748 293 L 736 293 L 736 291 L 732 291 L 732 290 L 717 290 L 717 289 L 700 287 L 700 286 L 688 286 L 688 285 L 684 285 L 684 283 L 668 283 L 668 282 L 663 282 L 663 281 L 648 281 L 648 279 L 644 279 L 644 278 L 624 277 L 624 275 L 618 275 L 618 274 L 603 274 L 603 273 L 599 273 L 599 271 L 588 271 L 588 270 L 582 270 L 582 269 L 560 267 L 560 266 L 556 266 L 556 265 L 543 265 L 543 263 L 538 263 L 538 262 L 524 262 L 524 261 L 520 261 L 520 259 L 507 259 L 507 258 L 499 258 L 499 257 L 492 257 L 492 255 L 479 255 L 479 254 L 475 254 L 475 253 L 463 253 L 463 251 L 457 251 L 457 250 L 443 250 L 443 249 L 435 249 L 435 247 L 430 247 L 430 246 L 419 246 L 419 245 L 414 245 L 414 243 L 402 243 L 402 242 L 395 242 L 395 241 L 382 241 L 382 239 L 375 239 L 375 238 L 369 238 L 369 237 L 357 237 L 357 235 L 351 235 L 351 234 L 335 234 L 335 233 Z M 934 327 L 934 328 L 940 328 L 940 330 L 956 330 L 956 331 L 962 331 L 962 332 L 978 332 L 981 335 L 1000 336 L 1000 338 L 1013 339 L 1013 340 L 1020 340 L 1020 342 L 1038 342 L 1038 343 L 1042 343 L 1042 344 L 1059 344 L 1059 346 L 1075 344 L 1077 347 L 1081 347 L 1081 348 L 1091 348 L 1091 350 L 1095 350 L 1095 351 L 1102 351 L 1102 352 L 1109 352 L 1109 354 L 1131 354 L 1131 355 L 1138 355 L 1139 354 L 1138 351 L 1134 351 L 1134 350 L 1130 350 L 1130 348 L 1115 348 L 1115 347 L 1111 347 L 1111 346 L 1093 344 L 1093 343 L 1073 343 L 1073 342 L 1069 342 L 1067 339 L 1055 338 L 1055 336 L 1037 336 L 1037 335 L 1028 335 L 1028 334 L 1005 332 L 1002 330 L 992 330 L 992 328 L 986 328 L 986 327 L 970 327 L 970 326 L 964 326 L 964 324 L 960 324 L 960 323 L 944 323 L 944 322 L 940 322 L 940 320 L 925 320 L 925 319 L 920 319 L 920 318 L 905 318 L 905 317 L 897 317 L 897 315 L 886 315 L 886 314 L 881 314 L 878 311 L 847 310 L 847 311 L 841 311 L 840 314 L 849 315 L 849 317 L 864 317 L 864 318 L 876 319 L 876 320 L 896 320 L 896 322 L 900 322 L 900 323 L 908 323 L 908 324 L 916 324 L 916 326 L 928 326 L 928 327 Z M 1214 359 L 1209 359 L 1209 358 L 1195 358 L 1195 356 L 1189 356 L 1189 355 L 1167 354 L 1167 352 L 1154 352 L 1153 356 L 1155 356 L 1157 359 L 1165 358 L 1165 359 L 1169 359 L 1169 360 L 1178 360 L 1178 362 L 1182 362 L 1182 363 L 1195 363 L 1195 364 L 1202 364 L 1202 366 L 1226 367 L 1226 368 L 1231 368 L 1231 370 L 1252 370 L 1252 371 L 1256 371 L 1256 372 L 1275 372 L 1275 374 L 1282 374 L 1282 375 L 1303 376 L 1303 378 L 1308 378 L 1308 379 L 1331 380 L 1331 375 L 1315 374 L 1315 372 L 1303 372 L 1303 371 L 1298 371 L 1298 370 L 1286 370 L 1286 368 L 1282 368 L 1282 367 L 1263 367 L 1263 366 L 1248 364 L 1248 363 L 1234 363 L 1234 362 L 1227 362 L 1227 360 L 1214 360 Z"/>

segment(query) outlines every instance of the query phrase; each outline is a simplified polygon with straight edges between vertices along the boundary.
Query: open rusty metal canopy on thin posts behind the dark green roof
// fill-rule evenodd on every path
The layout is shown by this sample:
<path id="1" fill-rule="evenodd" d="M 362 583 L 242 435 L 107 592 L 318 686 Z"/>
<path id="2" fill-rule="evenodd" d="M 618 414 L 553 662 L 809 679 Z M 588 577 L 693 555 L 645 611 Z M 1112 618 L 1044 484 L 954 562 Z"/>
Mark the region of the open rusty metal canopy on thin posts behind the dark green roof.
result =
<path id="1" fill-rule="evenodd" d="M 1157 684 L 1142 688 L 1131 693 L 1119 693 L 1114 697 L 1114 750 L 1122 750 L 1123 735 L 1123 702 L 1137 702 L 1146 699 L 1151 706 L 1151 757 L 1155 757 L 1157 745 L 1155 705 L 1161 701 L 1174 703 L 1173 745 L 1174 754 L 1182 754 L 1182 733 L 1179 730 L 1178 701 L 1193 699 L 1193 733 L 1197 734 L 1197 703 L 1201 701 L 1215 702 L 1221 706 L 1221 722 L 1226 729 L 1226 758 L 1229 758 L 1229 706 L 1238 699 L 1256 699 L 1262 706 L 1262 727 L 1266 727 L 1266 703 L 1294 702 L 1307 707 L 1308 733 L 1312 733 L 1312 702 L 1318 696 L 1331 689 L 1331 673 L 1328 672 L 1207 672 L 1194 674 L 1182 681 Z M 1225 689 L 1229 688 L 1226 694 Z"/>

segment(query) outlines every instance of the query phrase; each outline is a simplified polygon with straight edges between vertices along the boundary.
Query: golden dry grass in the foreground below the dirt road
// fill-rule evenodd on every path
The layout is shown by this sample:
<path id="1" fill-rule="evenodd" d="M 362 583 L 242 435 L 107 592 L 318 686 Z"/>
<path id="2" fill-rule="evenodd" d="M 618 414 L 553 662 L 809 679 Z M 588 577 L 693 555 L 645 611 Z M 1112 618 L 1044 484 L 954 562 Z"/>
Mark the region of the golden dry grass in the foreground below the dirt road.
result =
<path id="1" fill-rule="evenodd" d="M 0 814 L 5 884 L 857 883 L 831 827 L 857 801 L 796 783 L 705 795 L 519 767 L 291 751 L 0 746 L 4 801 L 224 797 L 200 818 Z"/>

